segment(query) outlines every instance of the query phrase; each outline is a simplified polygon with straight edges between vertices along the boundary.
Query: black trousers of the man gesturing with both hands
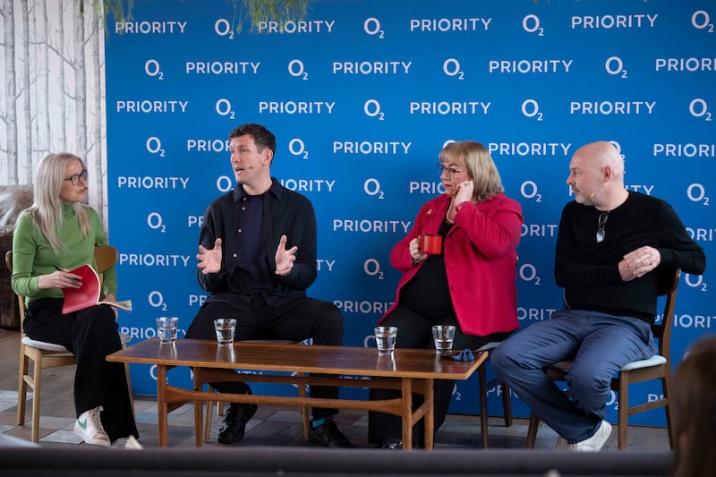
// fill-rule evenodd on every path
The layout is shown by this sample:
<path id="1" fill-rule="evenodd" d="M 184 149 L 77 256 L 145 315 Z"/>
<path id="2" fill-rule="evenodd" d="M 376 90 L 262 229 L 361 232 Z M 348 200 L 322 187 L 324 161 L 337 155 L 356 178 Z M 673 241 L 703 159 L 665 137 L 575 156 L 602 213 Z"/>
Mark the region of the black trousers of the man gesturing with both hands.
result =
<path id="1" fill-rule="evenodd" d="M 217 339 L 214 319 L 236 319 L 234 341 L 247 339 L 289 339 L 303 341 L 312 338 L 315 345 L 343 344 L 343 315 L 330 302 L 312 298 L 296 298 L 269 307 L 257 296 L 249 310 L 238 309 L 226 302 L 205 302 L 186 331 L 187 338 Z M 251 388 L 243 382 L 217 382 L 211 385 L 221 393 L 248 394 Z M 312 386 L 311 397 L 338 397 L 337 387 Z M 337 409 L 312 409 L 313 419 L 336 414 Z"/>

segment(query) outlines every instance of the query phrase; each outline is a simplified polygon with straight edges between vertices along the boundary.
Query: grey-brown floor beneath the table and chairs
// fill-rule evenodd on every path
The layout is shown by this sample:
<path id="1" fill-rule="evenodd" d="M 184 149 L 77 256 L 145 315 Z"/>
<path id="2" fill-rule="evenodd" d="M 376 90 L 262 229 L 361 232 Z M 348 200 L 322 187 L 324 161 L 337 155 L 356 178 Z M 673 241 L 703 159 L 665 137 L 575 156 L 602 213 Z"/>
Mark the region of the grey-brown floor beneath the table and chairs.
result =
<path id="1" fill-rule="evenodd" d="M 0 434 L 30 440 L 30 422 L 18 426 L 17 411 L 19 334 L 0 337 Z M 42 415 L 40 417 L 40 445 L 42 447 L 93 447 L 81 443 L 72 432 L 74 405 L 72 380 L 74 367 L 44 371 L 42 383 Z M 28 415 L 30 419 L 31 396 Z M 140 442 L 145 448 L 158 447 L 157 405 L 153 397 L 135 397 Z M 368 443 L 368 418 L 360 411 L 341 411 L 338 426 L 357 447 L 373 447 Z M 216 442 L 220 416 L 214 416 L 212 448 L 231 448 Z M 490 448 L 522 448 L 527 433 L 527 421 L 516 419 L 507 428 L 498 417 L 490 418 Z M 667 431 L 661 428 L 631 426 L 628 431 L 629 449 L 661 450 L 669 448 Z M 542 425 L 537 435 L 537 448 L 554 448 L 557 435 Z M 306 447 L 303 440 L 301 414 L 295 408 L 261 406 L 246 428 L 246 437 L 238 446 Z M 184 405 L 169 416 L 169 447 L 194 447 L 193 407 Z M 480 448 L 480 422 L 477 416 L 450 414 L 435 439 L 436 448 Z M 616 430 L 606 449 L 617 448 Z"/>

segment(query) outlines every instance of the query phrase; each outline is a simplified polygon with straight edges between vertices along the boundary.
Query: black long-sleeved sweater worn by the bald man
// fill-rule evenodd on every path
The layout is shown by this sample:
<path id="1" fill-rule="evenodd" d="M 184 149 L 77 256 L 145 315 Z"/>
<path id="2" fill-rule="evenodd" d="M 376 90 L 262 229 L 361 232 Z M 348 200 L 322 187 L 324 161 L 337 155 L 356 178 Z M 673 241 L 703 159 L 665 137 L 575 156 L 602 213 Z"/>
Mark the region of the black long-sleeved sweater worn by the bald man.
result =
<path id="1" fill-rule="evenodd" d="M 633 316 L 653 322 L 656 317 L 660 268 L 682 268 L 701 275 L 703 249 L 686 234 L 674 209 L 664 200 L 629 192 L 609 211 L 604 240 L 597 242 L 601 211 L 569 202 L 562 210 L 555 253 L 557 285 L 565 288 L 565 306 Z M 622 281 L 618 262 L 644 245 L 661 253 L 661 266 L 634 280 Z"/>

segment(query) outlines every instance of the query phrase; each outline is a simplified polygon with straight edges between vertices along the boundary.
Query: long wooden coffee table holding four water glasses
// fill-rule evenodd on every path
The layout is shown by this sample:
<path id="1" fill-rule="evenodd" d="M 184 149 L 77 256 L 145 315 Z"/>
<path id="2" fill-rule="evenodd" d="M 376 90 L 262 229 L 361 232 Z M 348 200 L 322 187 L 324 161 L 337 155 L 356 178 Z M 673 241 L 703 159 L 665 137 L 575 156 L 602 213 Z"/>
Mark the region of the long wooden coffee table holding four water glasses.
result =
<path id="1" fill-rule="evenodd" d="M 426 449 L 433 447 L 433 380 L 468 379 L 487 359 L 476 353 L 475 360 L 458 362 L 440 358 L 431 350 L 396 349 L 392 356 L 379 355 L 376 348 L 357 346 L 285 345 L 234 343 L 218 346 L 216 341 L 177 339 L 174 345 L 160 345 L 150 338 L 107 356 L 109 362 L 136 362 L 157 365 L 159 447 L 167 445 L 167 414 L 195 401 L 196 445 L 201 446 L 204 401 L 296 405 L 363 409 L 401 416 L 403 448 L 413 447 L 413 425 L 425 420 Z M 190 366 L 194 388 L 166 383 L 166 371 Z M 285 371 L 291 375 L 229 373 L 227 370 Z M 380 379 L 368 379 L 380 378 Z M 219 381 L 276 382 L 299 388 L 299 396 L 236 395 L 204 391 L 204 384 Z M 385 400 L 326 399 L 306 396 L 305 386 L 341 386 L 396 389 L 400 397 Z M 413 411 L 413 393 L 424 396 Z M 305 430 L 304 430 L 305 432 Z"/>

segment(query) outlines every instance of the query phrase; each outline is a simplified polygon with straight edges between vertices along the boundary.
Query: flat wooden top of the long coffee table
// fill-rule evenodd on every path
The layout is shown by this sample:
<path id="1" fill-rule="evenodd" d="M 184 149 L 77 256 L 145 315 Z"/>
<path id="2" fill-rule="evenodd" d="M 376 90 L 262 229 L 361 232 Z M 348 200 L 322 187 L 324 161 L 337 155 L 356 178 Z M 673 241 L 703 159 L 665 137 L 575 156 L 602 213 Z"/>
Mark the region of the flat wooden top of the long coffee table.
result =
<path id="1" fill-rule="evenodd" d="M 160 345 L 149 338 L 109 354 L 110 362 L 136 362 L 166 366 L 290 371 L 323 374 L 420 379 L 468 379 L 487 358 L 475 353 L 468 362 L 438 357 L 432 350 L 396 349 L 392 356 L 376 348 L 359 346 L 286 345 L 235 342 L 218 346 L 213 340 L 177 339 Z"/>

